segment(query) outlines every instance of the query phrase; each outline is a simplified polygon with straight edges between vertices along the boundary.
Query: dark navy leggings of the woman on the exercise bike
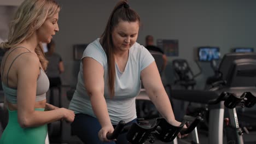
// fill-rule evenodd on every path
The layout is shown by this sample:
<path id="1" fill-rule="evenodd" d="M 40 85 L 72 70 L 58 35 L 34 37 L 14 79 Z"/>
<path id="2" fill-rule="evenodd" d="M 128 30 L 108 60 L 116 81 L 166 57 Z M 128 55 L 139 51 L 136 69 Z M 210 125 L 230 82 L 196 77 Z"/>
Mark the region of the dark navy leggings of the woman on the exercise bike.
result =
<path id="1" fill-rule="evenodd" d="M 136 119 L 133 119 L 131 122 L 127 123 L 126 125 L 136 123 Z M 116 125 L 113 125 L 114 127 Z M 117 141 L 112 142 L 102 142 L 98 139 L 98 131 L 101 129 L 101 125 L 98 122 L 98 119 L 95 117 L 91 117 L 89 115 L 85 115 L 82 113 L 75 114 L 74 121 L 71 123 L 72 133 L 77 135 L 80 140 L 82 140 L 85 144 L 126 144 L 126 133 L 121 134 L 118 136 Z"/>

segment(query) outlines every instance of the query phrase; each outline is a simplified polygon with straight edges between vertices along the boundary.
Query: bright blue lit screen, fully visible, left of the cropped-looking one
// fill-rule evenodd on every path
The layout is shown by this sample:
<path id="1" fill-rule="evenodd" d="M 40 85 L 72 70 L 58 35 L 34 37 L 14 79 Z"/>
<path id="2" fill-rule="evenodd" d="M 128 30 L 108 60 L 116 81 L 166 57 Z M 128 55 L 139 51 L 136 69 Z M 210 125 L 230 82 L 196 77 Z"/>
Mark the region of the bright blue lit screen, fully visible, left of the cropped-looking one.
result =
<path id="1" fill-rule="evenodd" d="M 203 46 L 198 48 L 199 61 L 211 62 L 220 57 L 219 47 Z"/>

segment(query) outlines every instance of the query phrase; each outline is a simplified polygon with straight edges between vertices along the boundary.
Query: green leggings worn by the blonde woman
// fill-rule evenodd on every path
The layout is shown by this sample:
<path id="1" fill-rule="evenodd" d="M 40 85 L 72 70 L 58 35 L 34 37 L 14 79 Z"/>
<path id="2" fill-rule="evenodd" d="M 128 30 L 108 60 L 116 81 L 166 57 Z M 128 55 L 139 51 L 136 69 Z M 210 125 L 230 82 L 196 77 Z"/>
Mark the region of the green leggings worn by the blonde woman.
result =
<path id="1" fill-rule="evenodd" d="M 44 109 L 35 109 L 44 111 Z M 44 144 L 47 134 L 47 125 L 34 128 L 21 128 L 18 123 L 18 112 L 9 110 L 9 122 L 0 139 L 0 144 Z"/>

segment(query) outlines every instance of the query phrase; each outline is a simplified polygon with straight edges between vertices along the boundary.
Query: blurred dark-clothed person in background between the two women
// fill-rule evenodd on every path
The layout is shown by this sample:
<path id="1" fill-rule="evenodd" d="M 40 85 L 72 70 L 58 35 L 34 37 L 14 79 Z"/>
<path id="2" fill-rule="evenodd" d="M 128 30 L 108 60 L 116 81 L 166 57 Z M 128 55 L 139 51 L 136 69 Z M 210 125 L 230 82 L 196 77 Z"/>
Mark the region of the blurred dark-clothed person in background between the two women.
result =
<path id="1" fill-rule="evenodd" d="M 61 77 L 60 74 L 64 72 L 64 65 L 61 56 L 55 52 L 55 42 L 51 40 L 47 44 L 48 51 L 45 53 L 46 59 L 49 61 L 46 70 L 46 75 L 50 81 L 50 103 L 53 103 L 54 92 L 53 88 L 59 90 L 59 97 L 61 96 Z"/>

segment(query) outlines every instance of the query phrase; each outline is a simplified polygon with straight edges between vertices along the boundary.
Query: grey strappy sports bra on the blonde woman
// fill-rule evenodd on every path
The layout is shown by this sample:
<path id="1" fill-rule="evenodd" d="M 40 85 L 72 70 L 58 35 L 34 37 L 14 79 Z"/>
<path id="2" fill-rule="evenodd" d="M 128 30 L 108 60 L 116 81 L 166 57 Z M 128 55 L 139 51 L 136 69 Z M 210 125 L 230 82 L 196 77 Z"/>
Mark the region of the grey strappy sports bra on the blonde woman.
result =
<path id="1" fill-rule="evenodd" d="M 13 52 L 14 50 L 16 50 L 18 48 L 26 49 L 25 47 L 16 47 L 11 52 Z M 8 56 L 10 55 L 11 52 L 8 53 L 7 57 L 5 58 L 5 61 L 8 58 Z M 28 50 L 28 52 L 31 52 L 31 51 Z M 10 67 L 8 69 L 8 72 L 7 72 L 7 85 L 5 85 L 2 82 L 2 87 L 3 87 L 5 98 L 7 99 L 7 101 L 9 103 L 12 103 L 12 104 L 17 104 L 17 89 L 9 87 L 8 74 L 9 74 L 9 70 L 10 70 L 11 66 L 13 65 L 14 61 L 16 60 L 16 58 L 23 55 L 24 53 L 27 53 L 27 52 L 20 53 L 17 57 L 15 57 L 13 62 L 11 62 L 11 65 L 10 65 Z M 3 74 L 3 71 L 4 71 L 5 61 L 3 63 L 4 65 L 3 65 L 2 74 Z M 41 101 L 41 100 L 46 99 L 46 92 L 48 91 L 49 85 L 50 85 L 49 84 L 49 79 L 46 76 L 46 74 L 44 73 L 44 71 L 42 70 L 42 68 L 39 68 L 39 69 L 40 69 L 40 74 L 39 74 L 38 79 L 37 79 L 36 101 Z"/>

